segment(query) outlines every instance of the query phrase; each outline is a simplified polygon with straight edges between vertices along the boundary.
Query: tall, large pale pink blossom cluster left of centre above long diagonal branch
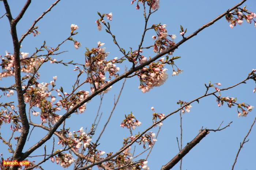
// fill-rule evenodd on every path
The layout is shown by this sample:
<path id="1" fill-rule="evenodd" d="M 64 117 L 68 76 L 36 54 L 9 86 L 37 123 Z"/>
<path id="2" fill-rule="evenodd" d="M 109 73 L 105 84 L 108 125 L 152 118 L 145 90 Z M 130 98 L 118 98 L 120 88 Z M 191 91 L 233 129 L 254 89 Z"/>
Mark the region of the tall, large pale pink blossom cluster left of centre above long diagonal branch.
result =
<path id="1" fill-rule="evenodd" d="M 87 49 L 87 52 L 85 53 L 85 67 L 88 74 L 87 82 L 91 84 L 91 93 L 94 92 L 95 88 L 98 90 L 108 83 L 105 77 L 106 72 L 109 73 L 109 79 L 111 79 L 111 76 L 116 76 L 120 68 L 114 63 L 120 63 L 123 61 L 118 60 L 117 57 L 106 61 L 106 57 L 109 52 L 105 51 L 106 48 L 101 48 L 103 45 L 104 43 L 98 42 L 97 48 L 93 48 L 91 50 Z M 107 93 L 111 88 L 112 86 L 103 91 L 103 93 Z"/>

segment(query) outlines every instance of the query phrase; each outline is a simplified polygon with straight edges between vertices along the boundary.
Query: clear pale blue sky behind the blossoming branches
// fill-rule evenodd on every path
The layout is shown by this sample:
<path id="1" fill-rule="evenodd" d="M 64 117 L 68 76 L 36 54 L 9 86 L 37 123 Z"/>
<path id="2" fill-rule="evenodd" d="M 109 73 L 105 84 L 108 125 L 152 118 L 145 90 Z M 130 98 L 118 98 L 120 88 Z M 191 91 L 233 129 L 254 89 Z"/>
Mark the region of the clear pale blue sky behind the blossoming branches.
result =
<path id="1" fill-rule="evenodd" d="M 18 37 L 26 32 L 33 21 L 38 18 L 54 1 L 32 1 L 27 9 L 27 12 L 20 20 L 17 26 Z M 167 24 L 167 33 L 169 35 L 176 34 L 175 42 L 179 42 L 182 37 L 179 35 L 180 25 L 187 28 L 188 36 L 195 32 L 204 24 L 210 22 L 218 15 L 233 7 L 239 0 L 161 0 L 160 8 L 157 12 L 151 15 L 148 22 L 148 27 L 153 24 Z M 9 2 L 12 16 L 15 17 L 25 1 L 13 0 Z M 256 12 L 256 1 L 248 0 L 242 7 L 247 5 L 247 9 Z M 22 42 L 21 52 L 34 53 L 35 47 L 39 48 L 43 45 L 44 40 L 46 46 L 56 47 L 64 39 L 70 35 L 70 25 L 78 25 L 78 34 L 73 38 L 82 43 L 82 47 L 75 49 L 74 43 L 71 41 L 65 42 L 60 47 L 59 51 L 68 51 L 61 55 L 54 56 L 57 61 L 65 62 L 73 60 L 74 63 L 84 63 L 85 47 L 91 49 L 97 47 L 97 42 L 105 43 L 106 51 L 110 52 L 107 59 L 115 57 L 123 57 L 117 46 L 114 45 L 111 36 L 106 33 L 103 27 L 102 31 L 98 31 L 95 21 L 99 19 L 97 11 L 100 13 L 113 13 L 113 19 L 110 22 L 111 31 L 116 36 L 119 45 L 129 50 L 129 47 L 137 49 L 140 43 L 141 35 L 144 29 L 143 8 L 140 4 L 140 9 L 135 9 L 136 2 L 131 5 L 131 0 L 112 0 L 112 1 L 60 1 L 53 9 L 42 18 L 36 26 L 41 35 L 29 35 Z M 0 3 L 0 15 L 5 13 L 3 3 Z M 6 16 L 0 19 L 0 34 L 1 46 L 0 54 L 5 55 L 5 50 L 9 53 L 13 52 L 12 40 L 10 35 L 10 26 Z M 254 22 L 253 22 L 254 24 Z M 142 125 L 133 133 L 142 132 L 152 124 L 152 113 L 150 109 L 154 106 L 157 113 L 168 113 L 179 108 L 178 100 L 191 101 L 199 96 L 202 96 L 206 88 L 204 84 L 209 81 L 213 83 L 221 83 L 220 88 L 227 88 L 244 80 L 252 69 L 256 69 L 255 56 L 255 39 L 256 28 L 253 24 L 244 23 L 237 25 L 233 29 L 229 27 L 225 18 L 222 18 L 212 26 L 201 31 L 197 36 L 182 44 L 174 51 L 174 56 L 181 56 L 175 61 L 179 69 L 184 70 L 179 76 L 172 77 L 172 67 L 167 65 L 167 73 L 169 78 L 161 87 L 155 87 L 150 92 L 142 93 L 138 89 L 139 78 L 136 76 L 127 79 L 124 85 L 120 101 L 113 112 L 112 119 L 106 127 L 105 133 L 99 140 L 98 149 L 105 152 L 116 152 L 122 147 L 123 138 L 130 136 L 129 130 L 121 128 L 120 124 L 124 119 L 124 115 L 128 115 L 131 111 L 136 119 L 142 122 Z M 143 46 L 154 44 L 152 36 L 156 35 L 153 30 L 147 32 Z M 42 54 L 44 54 L 42 52 Z M 153 49 L 143 50 L 145 57 L 154 57 Z M 120 73 L 124 72 L 124 66 L 128 68 L 131 63 L 125 61 L 120 64 Z M 74 72 L 75 67 L 56 65 L 45 63 L 40 71 L 41 78 L 39 82 L 50 82 L 53 76 L 57 76 L 56 88 L 63 87 L 64 92 L 69 93 L 72 90 L 72 85 L 76 80 L 78 72 Z M 82 69 L 82 67 L 81 67 Z M 83 77 L 83 80 L 86 77 Z M 82 80 L 81 80 L 82 81 Z M 113 108 L 114 96 L 117 98 L 123 80 L 113 85 L 113 88 L 104 95 L 101 109 L 99 113 L 103 113 L 98 124 L 92 142 L 95 142 L 103 125 L 108 119 L 109 113 Z M 0 86 L 8 86 L 14 84 L 14 78 L 3 78 L 0 81 Z M 237 97 L 237 103 L 246 103 L 256 106 L 255 94 L 252 93 L 255 88 L 254 81 L 248 81 L 247 84 L 239 85 L 231 90 L 221 92 L 223 97 Z M 89 85 L 82 86 L 81 90 L 90 91 Z M 211 88 L 209 92 L 215 89 Z M 55 94 L 57 96 L 57 93 Z M 60 100 L 56 98 L 57 100 Z M 78 131 L 80 127 L 90 129 L 97 115 L 100 97 L 96 96 L 87 104 L 87 109 L 79 115 L 72 115 L 66 121 L 66 127 L 71 127 L 71 131 Z M 14 98 L 0 98 L 1 102 L 15 100 Z M 208 129 L 217 129 L 221 122 L 224 127 L 231 121 L 230 127 L 223 131 L 210 132 L 196 147 L 194 147 L 183 159 L 182 169 L 188 170 L 226 170 L 231 169 L 236 153 L 240 146 L 240 142 L 244 139 L 251 124 L 256 116 L 255 110 L 249 112 L 247 117 L 237 116 L 237 107 L 228 108 L 226 104 L 218 107 L 214 96 L 205 97 L 198 103 L 192 103 L 192 108 L 189 113 L 182 115 L 182 142 L 183 146 L 190 142 L 199 133 L 199 130 L 204 127 Z M 2 108 L 3 109 L 3 108 Z M 63 115 L 64 110 L 59 114 Z M 33 117 L 36 123 L 40 123 L 39 116 Z M 87 128 L 87 129 L 88 129 Z M 32 127 L 30 128 L 30 130 Z M 155 133 L 158 127 L 152 130 Z M 1 126 L 1 136 L 6 139 L 10 138 L 10 125 L 3 124 Z M 38 142 L 41 135 L 46 132 L 39 128 L 34 128 L 29 142 L 27 142 L 24 150 L 27 150 L 32 144 Z M 251 134 L 248 136 L 247 142 L 242 148 L 238 157 L 235 169 L 237 170 L 253 170 L 256 167 L 256 127 L 253 127 Z M 14 136 L 19 136 L 18 132 Z M 180 138 L 180 116 L 178 113 L 170 116 L 163 122 L 161 131 L 157 138 L 157 142 L 148 158 L 148 166 L 151 170 L 161 169 L 178 153 L 178 145 L 176 137 Z M 57 137 L 54 136 L 55 141 Z M 56 142 L 57 143 L 57 142 Z M 14 146 L 16 141 L 12 142 Z M 52 139 L 46 143 L 47 151 L 52 150 Z M 135 155 L 138 155 L 144 149 L 142 146 L 135 144 Z M 7 147 L 0 143 L 0 152 L 4 158 L 10 157 Z M 61 146 L 55 146 L 56 149 L 61 149 Z M 134 148 L 134 146 L 133 146 Z M 39 148 L 31 156 L 43 155 L 44 148 Z M 147 152 L 142 154 L 138 159 L 146 158 Z M 106 154 L 104 155 L 106 156 Z M 30 161 L 39 162 L 42 157 L 29 158 Z M 136 159 L 136 158 L 135 158 Z M 61 169 L 60 165 L 50 161 L 42 164 L 44 169 Z M 73 166 L 68 169 L 72 169 Z M 93 169 L 97 169 L 94 167 Z M 179 164 L 174 170 L 179 169 Z"/>

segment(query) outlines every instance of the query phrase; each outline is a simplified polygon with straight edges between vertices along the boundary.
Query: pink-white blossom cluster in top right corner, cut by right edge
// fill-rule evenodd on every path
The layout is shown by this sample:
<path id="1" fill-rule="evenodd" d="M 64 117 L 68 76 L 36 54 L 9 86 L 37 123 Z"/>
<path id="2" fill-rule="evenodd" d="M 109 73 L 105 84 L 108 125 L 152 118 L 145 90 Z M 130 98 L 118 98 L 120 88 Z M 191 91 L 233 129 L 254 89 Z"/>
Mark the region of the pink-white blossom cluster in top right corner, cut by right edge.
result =
<path id="1" fill-rule="evenodd" d="M 237 23 L 241 25 L 244 22 L 244 19 L 249 24 L 251 24 L 253 20 L 254 26 L 256 27 L 256 21 L 253 18 L 256 18 L 256 13 L 248 11 L 245 7 L 237 8 L 234 12 L 230 12 L 226 15 L 227 22 L 230 22 L 230 28 L 235 27 Z"/>

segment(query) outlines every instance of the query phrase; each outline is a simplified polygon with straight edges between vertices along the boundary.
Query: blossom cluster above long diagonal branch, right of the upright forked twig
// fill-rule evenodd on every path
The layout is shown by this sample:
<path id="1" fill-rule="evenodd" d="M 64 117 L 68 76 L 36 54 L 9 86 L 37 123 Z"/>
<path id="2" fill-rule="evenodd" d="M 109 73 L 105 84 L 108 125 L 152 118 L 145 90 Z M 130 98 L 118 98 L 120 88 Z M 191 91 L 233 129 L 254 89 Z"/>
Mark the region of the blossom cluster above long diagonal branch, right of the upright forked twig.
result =
<path id="1" fill-rule="evenodd" d="M 173 41 L 176 38 L 176 35 L 168 35 L 166 28 L 167 25 L 153 25 L 152 28 L 154 28 L 155 32 L 157 33 L 157 36 L 152 36 L 152 39 L 155 40 L 154 49 L 153 51 L 155 53 L 162 53 L 163 51 L 166 51 L 168 48 L 175 45 L 175 42 Z M 167 37 L 170 37 L 172 40 L 168 39 Z M 169 54 L 172 54 L 173 51 L 171 51 Z"/>

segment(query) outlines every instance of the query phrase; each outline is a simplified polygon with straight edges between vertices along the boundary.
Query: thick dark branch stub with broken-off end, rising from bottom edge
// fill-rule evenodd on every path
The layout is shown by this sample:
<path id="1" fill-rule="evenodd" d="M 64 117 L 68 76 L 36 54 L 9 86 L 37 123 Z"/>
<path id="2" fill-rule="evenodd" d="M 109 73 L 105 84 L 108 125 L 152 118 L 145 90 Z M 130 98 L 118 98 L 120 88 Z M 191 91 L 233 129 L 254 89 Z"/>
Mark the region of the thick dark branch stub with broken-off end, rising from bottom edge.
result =
<path id="1" fill-rule="evenodd" d="M 172 169 L 174 165 L 176 165 L 197 143 L 199 143 L 206 135 L 210 132 L 207 129 L 204 129 L 200 132 L 195 139 L 191 142 L 187 143 L 187 145 L 166 165 L 163 165 L 161 170 L 169 170 Z"/>

